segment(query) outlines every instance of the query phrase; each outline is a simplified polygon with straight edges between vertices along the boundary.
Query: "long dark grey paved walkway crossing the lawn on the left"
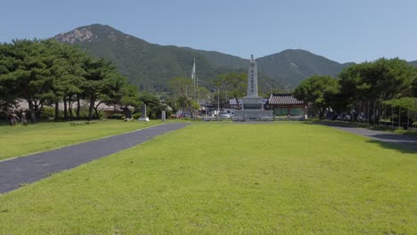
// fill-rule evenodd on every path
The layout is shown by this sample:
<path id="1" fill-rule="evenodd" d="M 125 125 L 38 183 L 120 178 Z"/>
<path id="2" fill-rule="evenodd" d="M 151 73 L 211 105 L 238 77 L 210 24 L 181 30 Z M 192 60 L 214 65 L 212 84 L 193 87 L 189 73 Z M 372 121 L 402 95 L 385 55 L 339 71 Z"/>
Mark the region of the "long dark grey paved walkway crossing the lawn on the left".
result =
<path id="1" fill-rule="evenodd" d="M 152 126 L 127 134 L 113 135 L 97 141 L 83 142 L 58 150 L 0 162 L 0 193 L 15 190 L 23 183 L 36 182 L 50 174 L 109 156 L 146 142 L 159 134 L 165 134 L 187 125 L 186 123 L 171 123 Z"/>

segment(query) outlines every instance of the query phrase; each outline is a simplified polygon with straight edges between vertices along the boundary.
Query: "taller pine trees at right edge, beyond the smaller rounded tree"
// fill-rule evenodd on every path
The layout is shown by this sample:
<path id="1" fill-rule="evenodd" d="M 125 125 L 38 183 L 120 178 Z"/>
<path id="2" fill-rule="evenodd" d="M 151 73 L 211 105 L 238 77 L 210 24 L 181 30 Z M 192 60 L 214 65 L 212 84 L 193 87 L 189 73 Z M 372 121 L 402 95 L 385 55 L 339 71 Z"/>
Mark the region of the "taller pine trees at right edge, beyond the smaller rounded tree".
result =
<path id="1" fill-rule="evenodd" d="M 406 61 L 381 58 L 343 69 L 339 74 L 340 93 L 356 109 L 354 119 L 366 104 L 370 110 L 368 117 L 371 117 L 376 101 L 412 95 L 412 83 L 416 77 L 416 69 Z M 371 123 L 371 118 L 369 121 Z"/>

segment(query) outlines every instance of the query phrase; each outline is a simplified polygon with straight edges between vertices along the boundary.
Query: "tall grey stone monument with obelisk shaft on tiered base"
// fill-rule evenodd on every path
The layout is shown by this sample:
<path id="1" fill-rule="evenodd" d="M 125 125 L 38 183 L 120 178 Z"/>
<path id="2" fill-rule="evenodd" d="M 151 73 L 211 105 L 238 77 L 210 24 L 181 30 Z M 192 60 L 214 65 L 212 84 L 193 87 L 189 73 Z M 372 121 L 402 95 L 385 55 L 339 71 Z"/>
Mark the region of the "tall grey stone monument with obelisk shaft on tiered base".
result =
<path id="1" fill-rule="evenodd" d="M 272 110 L 264 109 L 264 101 L 258 96 L 258 69 L 257 62 L 250 56 L 248 69 L 248 88 L 246 96 L 242 99 L 241 110 L 234 111 L 233 120 L 273 120 Z"/>

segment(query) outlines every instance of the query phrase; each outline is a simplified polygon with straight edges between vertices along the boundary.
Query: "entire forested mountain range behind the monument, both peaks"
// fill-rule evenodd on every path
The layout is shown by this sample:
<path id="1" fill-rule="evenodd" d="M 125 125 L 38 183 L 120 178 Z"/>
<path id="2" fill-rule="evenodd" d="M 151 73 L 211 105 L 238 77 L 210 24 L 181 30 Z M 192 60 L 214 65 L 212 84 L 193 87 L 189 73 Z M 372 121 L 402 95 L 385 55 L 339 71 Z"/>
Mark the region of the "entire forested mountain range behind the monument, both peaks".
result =
<path id="1" fill-rule="evenodd" d="M 225 53 L 151 44 L 101 24 L 76 28 L 55 38 L 79 45 L 93 56 L 109 59 L 132 84 L 148 91 L 167 91 L 170 78 L 190 77 L 194 58 L 200 85 L 209 88 L 219 74 L 246 72 L 249 64 L 249 60 Z M 312 75 L 336 76 L 349 65 L 304 50 L 285 50 L 258 58 L 257 62 L 261 92 L 284 86 L 294 88 Z"/>

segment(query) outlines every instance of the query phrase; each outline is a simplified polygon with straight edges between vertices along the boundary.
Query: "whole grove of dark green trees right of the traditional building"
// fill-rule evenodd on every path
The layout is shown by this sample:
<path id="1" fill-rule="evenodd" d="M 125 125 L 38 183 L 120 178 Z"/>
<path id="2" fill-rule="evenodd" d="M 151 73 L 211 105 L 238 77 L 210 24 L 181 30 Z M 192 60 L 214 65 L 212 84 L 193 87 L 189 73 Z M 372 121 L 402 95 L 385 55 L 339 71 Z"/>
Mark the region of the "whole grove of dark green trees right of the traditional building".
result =
<path id="1" fill-rule="evenodd" d="M 322 112 L 331 108 L 336 113 L 335 117 L 340 113 L 356 110 L 352 112 L 352 118 L 356 120 L 360 111 L 367 108 L 367 116 L 371 122 L 372 116 L 380 118 L 381 110 L 376 106 L 377 102 L 393 100 L 385 103 L 411 110 L 412 98 L 398 98 L 415 95 L 416 91 L 417 69 L 398 58 L 380 58 L 343 69 L 339 80 L 310 77 L 298 85 L 294 94 L 300 100 L 312 102 L 316 109 L 320 107 L 317 112 L 321 118 Z M 376 114 L 375 109 L 379 109 Z"/>

